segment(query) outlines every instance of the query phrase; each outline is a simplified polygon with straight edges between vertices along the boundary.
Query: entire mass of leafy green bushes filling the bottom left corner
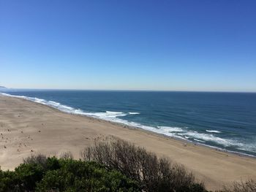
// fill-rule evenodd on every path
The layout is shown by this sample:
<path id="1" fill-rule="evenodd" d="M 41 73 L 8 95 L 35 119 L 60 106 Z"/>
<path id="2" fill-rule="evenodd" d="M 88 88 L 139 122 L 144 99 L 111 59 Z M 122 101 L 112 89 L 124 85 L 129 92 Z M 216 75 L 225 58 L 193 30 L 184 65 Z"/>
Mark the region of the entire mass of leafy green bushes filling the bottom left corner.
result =
<path id="1" fill-rule="evenodd" d="M 0 191 L 140 191 L 134 180 L 96 162 L 42 156 L 24 162 L 14 172 L 0 170 Z"/>

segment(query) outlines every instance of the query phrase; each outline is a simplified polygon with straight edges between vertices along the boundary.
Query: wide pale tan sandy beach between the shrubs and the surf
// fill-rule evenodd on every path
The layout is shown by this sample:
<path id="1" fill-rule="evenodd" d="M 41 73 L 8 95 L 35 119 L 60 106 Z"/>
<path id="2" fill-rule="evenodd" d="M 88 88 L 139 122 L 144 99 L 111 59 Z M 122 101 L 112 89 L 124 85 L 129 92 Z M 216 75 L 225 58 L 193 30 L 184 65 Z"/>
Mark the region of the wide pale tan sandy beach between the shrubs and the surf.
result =
<path id="1" fill-rule="evenodd" d="M 0 96 L 0 165 L 14 169 L 31 154 L 60 155 L 80 150 L 106 136 L 119 137 L 183 164 L 208 189 L 256 179 L 256 158 L 224 153 L 117 123 L 70 115 L 24 99 Z"/>

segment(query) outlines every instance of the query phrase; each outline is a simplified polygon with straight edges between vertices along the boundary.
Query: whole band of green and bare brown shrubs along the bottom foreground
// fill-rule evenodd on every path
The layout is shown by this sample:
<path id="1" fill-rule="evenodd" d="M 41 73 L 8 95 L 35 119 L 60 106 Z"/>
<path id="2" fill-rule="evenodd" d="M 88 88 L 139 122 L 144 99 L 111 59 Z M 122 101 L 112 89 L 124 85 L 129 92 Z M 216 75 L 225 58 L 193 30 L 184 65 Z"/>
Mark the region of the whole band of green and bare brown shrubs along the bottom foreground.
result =
<path id="1" fill-rule="evenodd" d="M 184 166 L 121 139 L 96 142 L 80 155 L 31 155 L 14 171 L 0 169 L 0 191 L 207 192 Z M 218 192 L 231 191 L 256 191 L 256 183 L 233 183 Z"/>

